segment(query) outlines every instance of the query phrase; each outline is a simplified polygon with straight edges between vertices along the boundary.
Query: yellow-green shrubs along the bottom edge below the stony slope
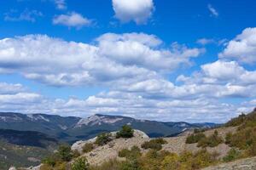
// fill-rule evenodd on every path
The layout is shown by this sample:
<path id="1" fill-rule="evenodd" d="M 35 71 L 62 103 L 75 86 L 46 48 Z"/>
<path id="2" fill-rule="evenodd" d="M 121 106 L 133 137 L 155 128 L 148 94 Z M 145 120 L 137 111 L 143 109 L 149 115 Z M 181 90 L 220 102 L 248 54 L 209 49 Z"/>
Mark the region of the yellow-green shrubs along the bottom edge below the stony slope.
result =
<path id="1" fill-rule="evenodd" d="M 217 162 L 217 155 L 207 150 L 195 154 L 186 151 L 179 156 L 167 151 L 149 150 L 144 156 L 131 156 L 126 161 L 111 160 L 101 166 L 91 167 L 90 170 L 194 170 Z"/>

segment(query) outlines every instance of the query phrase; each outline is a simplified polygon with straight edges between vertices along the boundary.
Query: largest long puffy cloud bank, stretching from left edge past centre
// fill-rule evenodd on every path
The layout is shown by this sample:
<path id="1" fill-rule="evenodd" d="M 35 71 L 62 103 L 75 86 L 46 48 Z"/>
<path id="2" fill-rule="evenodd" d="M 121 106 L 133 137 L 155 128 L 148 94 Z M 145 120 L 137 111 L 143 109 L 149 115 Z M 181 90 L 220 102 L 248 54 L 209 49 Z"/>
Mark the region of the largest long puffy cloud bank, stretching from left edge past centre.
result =
<path id="1" fill-rule="evenodd" d="M 95 45 L 42 35 L 5 38 L 0 71 L 55 86 L 125 84 L 159 77 L 157 69 L 173 71 L 201 54 L 197 48 L 159 48 L 160 43 L 153 35 L 136 33 L 106 34 Z"/>

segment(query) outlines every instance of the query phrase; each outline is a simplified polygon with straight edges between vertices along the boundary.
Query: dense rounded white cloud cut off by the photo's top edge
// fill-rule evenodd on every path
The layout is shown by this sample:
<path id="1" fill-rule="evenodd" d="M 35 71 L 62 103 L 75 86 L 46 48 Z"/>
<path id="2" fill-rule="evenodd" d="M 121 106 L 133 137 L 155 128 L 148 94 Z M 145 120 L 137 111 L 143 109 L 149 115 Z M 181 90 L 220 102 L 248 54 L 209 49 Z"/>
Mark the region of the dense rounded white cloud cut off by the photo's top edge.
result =
<path id="1" fill-rule="evenodd" d="M 115 17 L 121 22 L 147 23 L 154 10 L 153 0 L 113 0 Z"/>

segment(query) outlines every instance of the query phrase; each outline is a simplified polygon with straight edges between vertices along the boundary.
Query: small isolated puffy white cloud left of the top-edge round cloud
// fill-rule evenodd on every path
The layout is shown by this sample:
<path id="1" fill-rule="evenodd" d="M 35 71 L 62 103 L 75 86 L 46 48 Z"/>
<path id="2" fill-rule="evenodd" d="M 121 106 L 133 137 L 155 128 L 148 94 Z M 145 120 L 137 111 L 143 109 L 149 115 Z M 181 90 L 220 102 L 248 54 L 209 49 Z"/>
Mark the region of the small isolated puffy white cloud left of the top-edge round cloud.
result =
<path id="1" fill-rule="evenodd" d="M 55 16 L 53 24 L 81 28 L 83 26 L 90 26 L 92 24 L 92 20 L 85 18 L 81 14 L 73 12 Z"/>

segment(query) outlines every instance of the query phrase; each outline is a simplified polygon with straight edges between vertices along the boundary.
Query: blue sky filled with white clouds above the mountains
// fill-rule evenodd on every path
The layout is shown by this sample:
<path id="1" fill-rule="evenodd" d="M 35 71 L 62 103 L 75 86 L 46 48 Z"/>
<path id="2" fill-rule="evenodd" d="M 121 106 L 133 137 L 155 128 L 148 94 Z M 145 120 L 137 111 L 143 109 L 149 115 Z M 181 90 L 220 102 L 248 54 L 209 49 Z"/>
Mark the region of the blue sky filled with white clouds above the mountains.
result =
<path id="1" fill-rule="evenodd" d="M 253 0 L 0 1 L 0 111 L 226 122 L 256 107 Z"/>

